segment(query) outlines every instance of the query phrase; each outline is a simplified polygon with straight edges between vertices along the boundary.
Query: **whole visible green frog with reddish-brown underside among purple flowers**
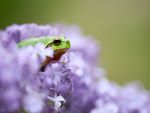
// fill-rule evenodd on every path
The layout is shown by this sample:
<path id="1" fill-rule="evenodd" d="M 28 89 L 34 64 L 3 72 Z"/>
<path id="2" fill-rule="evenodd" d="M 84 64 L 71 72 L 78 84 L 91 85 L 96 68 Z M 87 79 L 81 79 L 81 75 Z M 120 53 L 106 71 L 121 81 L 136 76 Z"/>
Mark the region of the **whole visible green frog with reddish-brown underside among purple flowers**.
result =
<path id="1" fill-rule="evenodd" d="M 53 58 L 46 56 L 45 61 L 41 64 L 41 71 L 44 71 L 46 66 L 51 62 L 58 61 L 63 54 L 70 48 L 70 41 L 64 36 L 47 36 L 39 38 L 29 38 L 17 44 L 19 48 L 26 46 L 35 46 L 37 43 L 42 43 L 45 48 L 51 47 L 54 50 Z"/>

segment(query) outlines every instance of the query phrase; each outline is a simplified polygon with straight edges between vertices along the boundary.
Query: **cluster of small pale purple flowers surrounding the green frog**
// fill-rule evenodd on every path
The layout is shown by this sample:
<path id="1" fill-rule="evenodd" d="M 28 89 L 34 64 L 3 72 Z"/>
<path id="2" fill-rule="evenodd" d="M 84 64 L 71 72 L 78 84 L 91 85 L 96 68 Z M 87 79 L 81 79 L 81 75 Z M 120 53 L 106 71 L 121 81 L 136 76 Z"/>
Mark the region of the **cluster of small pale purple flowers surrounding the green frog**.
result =
<path id="1" fill-rule="evenodd" d="M 18 48 L 30 37 L 69 38 L 71 48 L 44 72 L 51 48 Z M 38 55 L 37 55 L 38 53 Z M 98 45 L 76 26 L 12 25 L 0 31 L 0 113 L 150 113 L 150 95 L 139 84 L 121 87 L 97 66 Z"/>

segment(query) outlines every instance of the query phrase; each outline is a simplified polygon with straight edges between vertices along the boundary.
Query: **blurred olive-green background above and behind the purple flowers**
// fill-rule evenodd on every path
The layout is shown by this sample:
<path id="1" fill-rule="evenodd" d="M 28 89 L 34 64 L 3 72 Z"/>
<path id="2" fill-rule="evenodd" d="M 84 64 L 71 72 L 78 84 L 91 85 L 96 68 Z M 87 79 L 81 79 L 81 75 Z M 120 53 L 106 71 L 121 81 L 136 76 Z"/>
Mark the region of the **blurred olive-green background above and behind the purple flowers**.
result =
<path id="1" fill-rule="evenodd" d="M 100 65 L 120 84 L 150 88 L 149 0 L 1 0 L 0 28 L 13 23 L 77 24 L 102 51 Z"/>

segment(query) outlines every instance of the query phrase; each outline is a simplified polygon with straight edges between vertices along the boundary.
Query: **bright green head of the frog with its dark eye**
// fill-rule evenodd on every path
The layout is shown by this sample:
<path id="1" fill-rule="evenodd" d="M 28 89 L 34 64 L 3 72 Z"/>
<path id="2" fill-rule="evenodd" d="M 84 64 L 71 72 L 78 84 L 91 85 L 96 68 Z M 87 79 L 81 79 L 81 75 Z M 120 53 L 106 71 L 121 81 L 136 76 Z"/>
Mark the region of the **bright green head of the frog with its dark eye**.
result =
<path id="1" fill-rule="evenodd" d="M 70 41 L 66 39 L 64 36 L 53 37 L 52 42 L 47 45 L 47 47 L 51 47 L 55 50 L 69 49 Z"/>

